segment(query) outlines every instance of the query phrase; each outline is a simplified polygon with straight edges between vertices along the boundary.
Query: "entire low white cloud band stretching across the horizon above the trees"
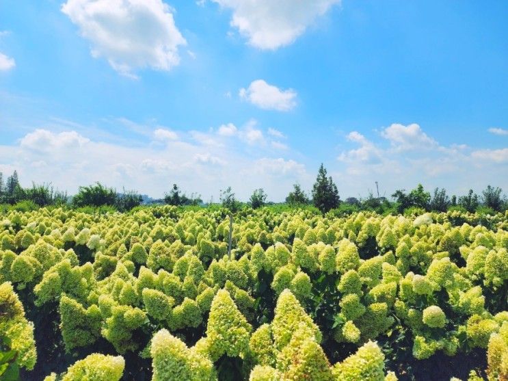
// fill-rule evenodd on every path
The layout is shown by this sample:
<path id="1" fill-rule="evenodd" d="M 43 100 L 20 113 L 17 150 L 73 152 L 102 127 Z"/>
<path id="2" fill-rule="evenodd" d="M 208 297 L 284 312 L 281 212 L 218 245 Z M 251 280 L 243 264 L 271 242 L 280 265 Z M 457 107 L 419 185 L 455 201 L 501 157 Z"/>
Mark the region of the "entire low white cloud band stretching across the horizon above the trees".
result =
<path id="1" fill-rule="evenodd" d="M 0 143 L 0 171 L 10 174 L 16 169 L 23 186 L 51 181 L 69 194 L 79 185 L 101 181 L 116 189 L 161 197 L 177 183 L 187 192 L 202 194 L 204 200 L 212 195 L 217 200 L 219 189 L 231 185 L 241 200 L 263 187 L 269 200 L 280 201 L 293 183 L 308 190 L 315 181 L 317 167 L 308 173 L 304 155 L 291 157 L 291 150 L 276 150 L 282 147 L 273 146 L 272 142 L 278 142 L 268 138 L 254 120 L 239 127 L 233 137 L 219 135 L 217 129 L 181 132 L 178 140 L 165 141 L 164 149 L 151 140 L 132 144 L 85 133 L 84 127 L 74 131 L 77 128 L 55 124 L 25 133 L 13 144 Z M 258 133 L 252 131 L 260 131 L 263 139 L 254 139 L 250 145 L 248 131 L 254 137 Z M 325 162 L 343 199 L 365 196 L 368 189 L 375 190 L 375 181 L 379 181 L 380 194 L 388 197 L 395 189 L 411 189 L 418 183 L 429 190 L 446 187 L 449 194 L 457 195 L 466 194 L 470 187 L 480 192 L 489 183 L 508 189 L 507 176 L 502 176 L 508 170 L 508 148 L 436 143 L 428 150 L 399 150 L 390 140 L 374 141 L 358 131 L 349 133 L 344 144 L 351 147 L 338 155 L 335 165 Z"/>

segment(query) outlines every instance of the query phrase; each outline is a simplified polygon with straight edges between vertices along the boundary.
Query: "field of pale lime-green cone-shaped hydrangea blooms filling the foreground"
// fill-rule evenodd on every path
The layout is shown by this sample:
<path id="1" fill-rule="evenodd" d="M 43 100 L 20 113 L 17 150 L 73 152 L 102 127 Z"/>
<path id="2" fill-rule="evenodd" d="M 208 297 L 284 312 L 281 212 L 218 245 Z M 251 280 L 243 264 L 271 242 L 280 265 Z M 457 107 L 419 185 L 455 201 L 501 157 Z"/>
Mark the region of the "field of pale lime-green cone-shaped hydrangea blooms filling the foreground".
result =
<path id="1" fill-rule="evenodd" d="M 508 211 L 229 234 L 218 208 L 2 212 L 0 378 L 508 380 Z"/>

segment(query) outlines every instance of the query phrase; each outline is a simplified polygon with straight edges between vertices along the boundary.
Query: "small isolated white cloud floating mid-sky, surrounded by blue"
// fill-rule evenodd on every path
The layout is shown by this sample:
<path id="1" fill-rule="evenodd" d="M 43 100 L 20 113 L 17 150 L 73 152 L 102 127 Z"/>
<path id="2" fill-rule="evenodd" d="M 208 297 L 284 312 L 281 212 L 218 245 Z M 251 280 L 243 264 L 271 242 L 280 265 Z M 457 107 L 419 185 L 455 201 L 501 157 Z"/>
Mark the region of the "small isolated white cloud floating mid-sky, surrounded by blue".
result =
<path id="1" fill-rule="evenodd" d="M 261 109 L 289 111 L 296 106 L 297 93 L 293 89 L 280 90 L 269 85 L 263 79 L 252 81 L 250 86 L 239 91 L 240 98 L 245 99 Z"/>

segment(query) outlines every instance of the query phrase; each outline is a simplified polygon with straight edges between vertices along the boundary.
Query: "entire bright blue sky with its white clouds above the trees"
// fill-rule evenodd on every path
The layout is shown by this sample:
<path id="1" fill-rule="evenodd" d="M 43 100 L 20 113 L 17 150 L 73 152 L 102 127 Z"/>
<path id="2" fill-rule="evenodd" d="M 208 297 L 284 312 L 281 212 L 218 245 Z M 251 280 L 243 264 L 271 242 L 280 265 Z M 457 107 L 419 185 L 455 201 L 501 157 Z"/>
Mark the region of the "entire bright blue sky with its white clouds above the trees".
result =
<path id="1" fill-rule="evenodd" d="M 508 3 L 0 0 L 0 171 L 282 200 L 508 189 Z"/>

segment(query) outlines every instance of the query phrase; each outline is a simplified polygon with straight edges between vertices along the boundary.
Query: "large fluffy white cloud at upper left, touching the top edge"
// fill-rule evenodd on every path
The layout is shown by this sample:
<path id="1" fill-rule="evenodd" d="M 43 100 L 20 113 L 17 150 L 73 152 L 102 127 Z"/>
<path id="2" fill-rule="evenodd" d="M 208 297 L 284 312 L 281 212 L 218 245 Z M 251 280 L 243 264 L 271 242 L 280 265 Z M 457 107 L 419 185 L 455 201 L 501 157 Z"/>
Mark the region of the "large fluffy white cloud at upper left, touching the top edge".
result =
<path id="1" fill-rule="evenodd" d="M 180 62 L 178 47 L 186 41 L 161 0 L 68 0 L 62 12 L 90 42 L 92 56 L 105 57 L 122 75 L 170 70 Z"/>

